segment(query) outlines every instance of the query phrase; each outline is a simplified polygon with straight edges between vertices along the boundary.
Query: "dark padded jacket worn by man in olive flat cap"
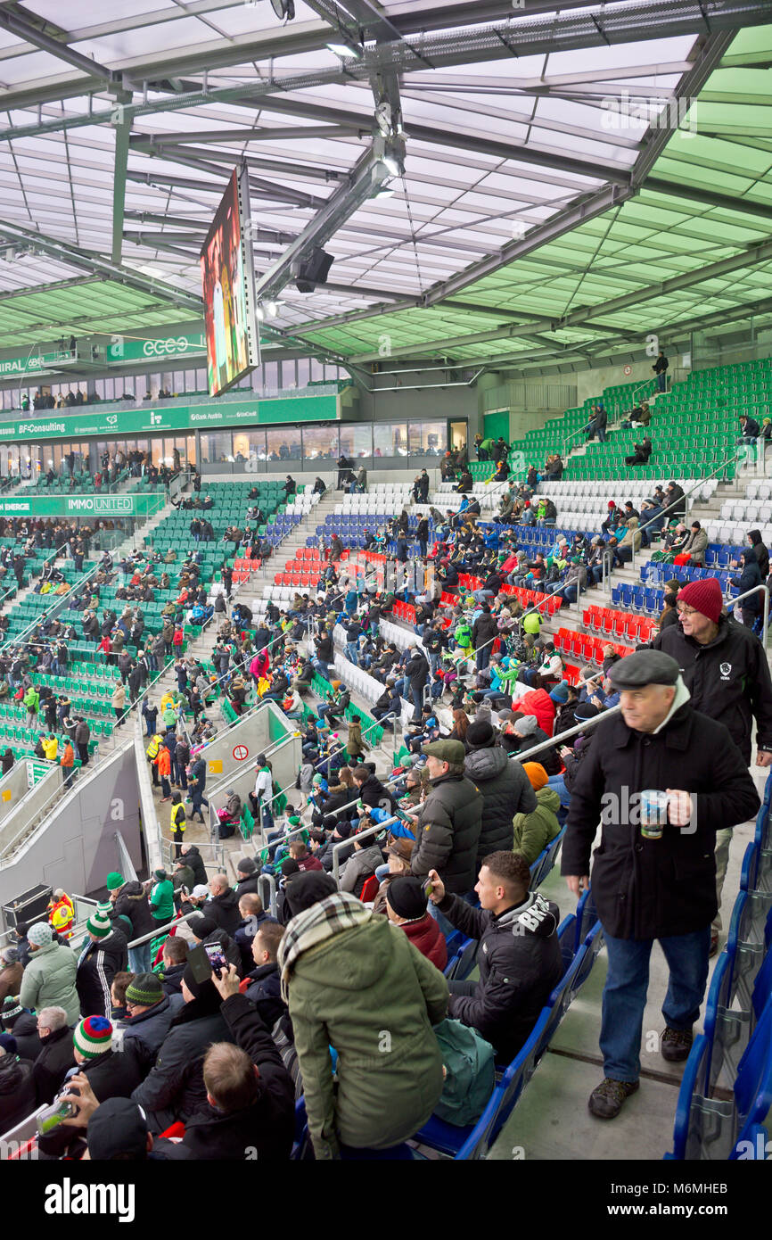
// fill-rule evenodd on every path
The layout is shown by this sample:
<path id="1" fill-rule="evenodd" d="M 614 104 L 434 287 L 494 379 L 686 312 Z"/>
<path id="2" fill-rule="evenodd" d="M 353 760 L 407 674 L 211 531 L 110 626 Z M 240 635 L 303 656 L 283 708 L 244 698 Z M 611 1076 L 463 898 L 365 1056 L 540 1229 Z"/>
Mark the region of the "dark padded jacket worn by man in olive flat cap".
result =
<path id="1" fill-rule="evenodd" d="M 449 892 L 470 892 L 477 880 L 482 792 L 462 775 L 441 775 L 430 785 L 419 807 L 410 869 L 419 878 L 436 869 Z"/>

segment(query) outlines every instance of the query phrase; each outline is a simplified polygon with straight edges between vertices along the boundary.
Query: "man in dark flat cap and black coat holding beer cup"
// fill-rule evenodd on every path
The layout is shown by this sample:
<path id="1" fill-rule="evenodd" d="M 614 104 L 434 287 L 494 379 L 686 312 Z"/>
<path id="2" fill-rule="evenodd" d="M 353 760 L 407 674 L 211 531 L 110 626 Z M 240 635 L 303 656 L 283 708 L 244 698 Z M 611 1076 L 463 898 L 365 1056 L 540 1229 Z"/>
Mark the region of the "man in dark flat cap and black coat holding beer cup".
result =
<path id="1" fill-rule="evenodd" d="M 613 665 L 621 713 L 603 719 L 571 790 L 561 872 L 579 895 L 595 849 L 592 894 L 608 951 L 599 1118 L 638 1089 L 649 956 L 659 940 L 670 982 L 660 1052 L 684 1060 L 708 980 L 716 911 L 715 837 L 756 815 L 758 796 L 722 723 L 694 709 L 678 663 L 643 650 Z"/>

